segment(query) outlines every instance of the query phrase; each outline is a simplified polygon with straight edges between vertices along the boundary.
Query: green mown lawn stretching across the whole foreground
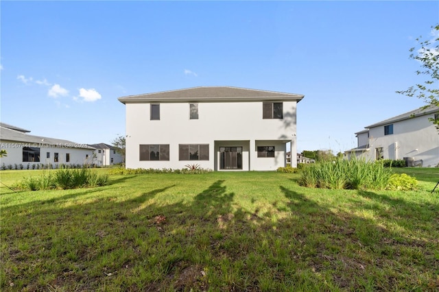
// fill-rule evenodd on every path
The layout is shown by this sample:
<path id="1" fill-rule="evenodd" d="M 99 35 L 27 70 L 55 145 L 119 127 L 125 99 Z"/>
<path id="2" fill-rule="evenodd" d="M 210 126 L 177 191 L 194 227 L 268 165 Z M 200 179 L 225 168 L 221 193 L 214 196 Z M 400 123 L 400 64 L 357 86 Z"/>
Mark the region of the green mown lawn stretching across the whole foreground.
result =
<path id="1" fill-rule="evenodd" d="M 43 171 L 0 171 L 0 290 L 438 291 L 439 169 L 396 171 L 420 190 L 212 172 L 14 193 Z"/>

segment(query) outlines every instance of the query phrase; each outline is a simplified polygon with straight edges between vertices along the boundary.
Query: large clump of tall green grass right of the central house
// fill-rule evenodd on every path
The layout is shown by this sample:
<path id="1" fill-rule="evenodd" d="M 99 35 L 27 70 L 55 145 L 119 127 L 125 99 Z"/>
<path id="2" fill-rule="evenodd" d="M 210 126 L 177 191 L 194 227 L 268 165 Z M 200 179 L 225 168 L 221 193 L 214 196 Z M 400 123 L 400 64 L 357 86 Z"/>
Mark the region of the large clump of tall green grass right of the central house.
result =
<path id="1" fill-rule="evenodd" d="M 298 183 L 301 186 L 333 189 L 384 189 L 392 175 L 383 162 L 364 159 L 321 161 L 307 165 Z"/>

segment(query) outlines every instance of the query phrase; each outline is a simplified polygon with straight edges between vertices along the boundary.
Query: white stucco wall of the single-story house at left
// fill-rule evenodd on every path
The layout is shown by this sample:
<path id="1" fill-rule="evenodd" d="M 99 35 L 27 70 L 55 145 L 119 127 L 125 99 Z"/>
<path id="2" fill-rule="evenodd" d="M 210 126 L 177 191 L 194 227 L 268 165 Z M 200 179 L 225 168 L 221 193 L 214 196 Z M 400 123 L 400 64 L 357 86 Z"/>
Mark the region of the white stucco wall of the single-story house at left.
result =
<path id="1" fill-rule="evenodd" d="M 25 168 L 29 163 L 31 166 L 34 164 L 44 165 L 56 165 L 56 164 L 84 164 L 91 163 L 93 157 L 93 149 L 81 149 L 73 147 L 56 147 L 55 145 L 38 145 L 36 143 L 25 143 L 17 141 L 0 141 L 2 145 L 1 149 L 8 151 L 7 156 L 0 158 L 0 165 L 3 163 L 8 165 L 20 165 Z M 23 146 L 31 145 L 32 147 L 40 146 L 40 162 L 23 162 Z M 49 152 L 49 158 L 47 158 L 47 152 Z M 58 153 L 58 162 L 54 162 L 55 153 Z M 66 161 L 67 154 L 70 154 L 70 162 Z M 88 158 L 86 156 L 88 155 Z"/>

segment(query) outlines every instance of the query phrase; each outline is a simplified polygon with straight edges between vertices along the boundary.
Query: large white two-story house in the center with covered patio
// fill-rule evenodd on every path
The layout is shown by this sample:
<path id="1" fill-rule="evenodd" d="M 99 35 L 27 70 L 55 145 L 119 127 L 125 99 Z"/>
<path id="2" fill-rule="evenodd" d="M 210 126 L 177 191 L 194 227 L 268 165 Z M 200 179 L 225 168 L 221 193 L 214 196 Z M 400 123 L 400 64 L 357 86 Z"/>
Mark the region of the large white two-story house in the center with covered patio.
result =
<path id="1" fill-rule="evenodd" d="M 287 143 L 296 156 L 296 105 L 303 97 L 229 86 L 120 97 L 126 105 L 126 167 L 285 167 Z"/>

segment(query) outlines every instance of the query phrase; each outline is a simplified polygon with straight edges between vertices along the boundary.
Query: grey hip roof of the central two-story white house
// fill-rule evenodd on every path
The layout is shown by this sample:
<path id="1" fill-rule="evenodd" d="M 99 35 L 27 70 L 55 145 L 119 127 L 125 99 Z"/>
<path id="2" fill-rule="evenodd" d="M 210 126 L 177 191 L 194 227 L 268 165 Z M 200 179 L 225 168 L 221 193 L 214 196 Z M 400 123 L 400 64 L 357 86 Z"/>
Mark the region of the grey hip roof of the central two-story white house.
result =
<path id="1" fill-rule="evenodd" d="M 304 95 L 231 86 L 199 86 L 178 90 L 119 97 L 122 104 L 185 101 L 300 101 Z"/>

